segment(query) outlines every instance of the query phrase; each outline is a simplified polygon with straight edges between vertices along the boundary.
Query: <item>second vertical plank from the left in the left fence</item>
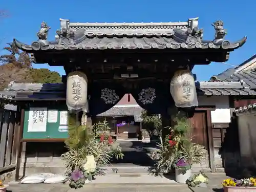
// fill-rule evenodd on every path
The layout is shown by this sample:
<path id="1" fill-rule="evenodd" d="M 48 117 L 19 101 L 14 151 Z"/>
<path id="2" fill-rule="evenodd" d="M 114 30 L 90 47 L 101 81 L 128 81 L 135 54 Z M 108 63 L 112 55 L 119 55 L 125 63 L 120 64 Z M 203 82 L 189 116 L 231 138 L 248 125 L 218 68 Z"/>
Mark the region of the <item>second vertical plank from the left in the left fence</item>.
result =
<path id="1" fill-rule="evenodd" d="M 8 126 L 8 138 L 7 138 L 7 146 L 6 146 L 6 159 L 5 166 L 11 164 L 12 157 L 12 148 L 13 148 L 13 132 L 14 132 L 14 124 L 15 124 L 15 111 L 10 111 L 10 119 Z"/>

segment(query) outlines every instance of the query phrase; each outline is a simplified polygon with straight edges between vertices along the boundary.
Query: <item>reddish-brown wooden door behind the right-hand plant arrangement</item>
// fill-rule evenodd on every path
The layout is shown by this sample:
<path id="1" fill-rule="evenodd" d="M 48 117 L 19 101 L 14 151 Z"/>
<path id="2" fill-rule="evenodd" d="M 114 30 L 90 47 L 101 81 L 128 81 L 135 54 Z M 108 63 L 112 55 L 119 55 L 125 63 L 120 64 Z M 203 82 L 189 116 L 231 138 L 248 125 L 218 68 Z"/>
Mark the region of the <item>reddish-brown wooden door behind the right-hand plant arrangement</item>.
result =
<path id="1" fill-rule="evenodd" d="M 190 118 L 191 134 L 193 142 L 205 146 L 207 149 L 207 132 L 206 132 L 206 113 L 196 112 L 194 117 Z"/>

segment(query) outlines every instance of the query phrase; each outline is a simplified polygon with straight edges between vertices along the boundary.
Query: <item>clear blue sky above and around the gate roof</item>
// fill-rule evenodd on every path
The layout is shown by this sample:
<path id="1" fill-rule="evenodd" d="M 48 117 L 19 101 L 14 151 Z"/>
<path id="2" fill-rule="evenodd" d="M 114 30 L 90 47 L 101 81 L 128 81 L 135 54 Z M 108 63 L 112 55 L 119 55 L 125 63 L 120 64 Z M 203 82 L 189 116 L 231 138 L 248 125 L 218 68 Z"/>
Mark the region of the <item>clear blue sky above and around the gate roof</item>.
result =
<path id="1" fill-rule="evenodd" d="M 255 1 L 1 1 L 0 9 L 9 12 L 9 18 L 0 22 L 0 37 L 4 42 L 11 42 L 15 37 L 31 44 L 36 40 L 36 33 L 43 20 L 52 27 L 49 39 L 54 39 L 55 32 L 60 27 L 59 18 L 70 19 L 70 22 L 108 23 L 108 22 L 185 22 L 188 18 L 199 17 L 199 27 L 204 29 L 205 39 L 214 39 L 215 20 L 223 20 L 227 29 L 226 39 L 236 41 L 247 36 L 247 42 L 230 54 L 227 61 L 237 66 L 255 54 L 256 23 Z M 4 43 L 1 45 L 4 46 Z M 1 52 L 0 52 L 1 54 Z M 49 67 L 47 64 L 34 64 L 35 68 L 49 68 L 65 74 L 62 67 Z M 231 66 L 214 63 L 206 66 L 196 66 L 193 70 L 198 80 L 209 80 L 210 76 L 221 73 Z"/>

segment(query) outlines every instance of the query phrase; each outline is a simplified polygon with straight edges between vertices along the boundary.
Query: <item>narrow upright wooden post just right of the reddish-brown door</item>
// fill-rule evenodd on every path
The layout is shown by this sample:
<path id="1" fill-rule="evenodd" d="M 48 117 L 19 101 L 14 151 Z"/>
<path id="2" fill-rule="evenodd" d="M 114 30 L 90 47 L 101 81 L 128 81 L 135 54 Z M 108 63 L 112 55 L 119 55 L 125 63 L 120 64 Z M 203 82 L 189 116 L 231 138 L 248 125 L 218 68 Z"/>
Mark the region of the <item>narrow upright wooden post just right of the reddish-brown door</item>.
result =
<path id="1" fill-rule="evenodd" d="M 215 167 L 215 155 L 214 155 L 214 138 L 212 137 L 212 126 L 211 126 L 211 114 L 210 111 L 206 111 L 207 118 L 207 131 L 208 131 L 208 143 L 209 143 L 209 159 L 211 172 L 216 172 Z"/>

